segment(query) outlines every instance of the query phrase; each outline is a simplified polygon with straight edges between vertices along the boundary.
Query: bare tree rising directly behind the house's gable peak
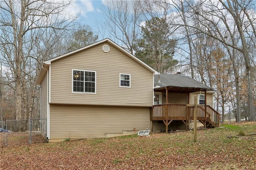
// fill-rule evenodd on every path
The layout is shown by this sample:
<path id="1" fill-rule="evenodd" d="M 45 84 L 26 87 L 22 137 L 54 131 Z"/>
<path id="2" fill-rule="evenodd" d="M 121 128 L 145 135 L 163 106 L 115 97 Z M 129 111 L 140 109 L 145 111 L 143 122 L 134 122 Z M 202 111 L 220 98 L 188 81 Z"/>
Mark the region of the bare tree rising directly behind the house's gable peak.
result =
<path id="1" fill-rule="evenodd" d="M 102 27 L 108 30 L 110 38 L 120 42 L 132 54 L 135 42 L 140 38 L 142 12 L 141 0 L 108 0 L 103 9 L 105 20 Z"/>

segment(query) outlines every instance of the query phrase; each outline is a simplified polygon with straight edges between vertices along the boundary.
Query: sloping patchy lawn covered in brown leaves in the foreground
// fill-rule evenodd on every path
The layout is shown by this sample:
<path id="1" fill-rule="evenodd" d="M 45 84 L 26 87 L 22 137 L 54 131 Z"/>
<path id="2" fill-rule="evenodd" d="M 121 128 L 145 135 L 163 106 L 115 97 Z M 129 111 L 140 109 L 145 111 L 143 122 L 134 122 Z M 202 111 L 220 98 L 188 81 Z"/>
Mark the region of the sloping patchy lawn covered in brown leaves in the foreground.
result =
<path id="1" fill-rule="evenodd" d="M 1 148 L 0 169 L 256 169 L 256 123 Z M 240 135 L 240 136 L 239 136 Z"/>

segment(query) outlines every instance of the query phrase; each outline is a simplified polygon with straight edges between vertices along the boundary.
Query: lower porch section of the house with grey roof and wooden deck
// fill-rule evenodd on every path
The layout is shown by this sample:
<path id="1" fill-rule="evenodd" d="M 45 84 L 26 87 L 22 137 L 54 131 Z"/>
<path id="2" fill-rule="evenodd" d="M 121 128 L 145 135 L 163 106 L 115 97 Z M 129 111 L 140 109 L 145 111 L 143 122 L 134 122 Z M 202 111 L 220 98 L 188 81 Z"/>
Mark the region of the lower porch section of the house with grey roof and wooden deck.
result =
<path id="1" fill-rule="evenodd" d="M 194 97 L 197 97 L 197 120 L 204 127 L 219 126 L 220 114 L 214 108 L 214 89 L 184 75 L 158 75 L 154 78 L 154 106 L 150 109 L 151 130 L 170 132 L 188 130 L 194 120 Z"/>

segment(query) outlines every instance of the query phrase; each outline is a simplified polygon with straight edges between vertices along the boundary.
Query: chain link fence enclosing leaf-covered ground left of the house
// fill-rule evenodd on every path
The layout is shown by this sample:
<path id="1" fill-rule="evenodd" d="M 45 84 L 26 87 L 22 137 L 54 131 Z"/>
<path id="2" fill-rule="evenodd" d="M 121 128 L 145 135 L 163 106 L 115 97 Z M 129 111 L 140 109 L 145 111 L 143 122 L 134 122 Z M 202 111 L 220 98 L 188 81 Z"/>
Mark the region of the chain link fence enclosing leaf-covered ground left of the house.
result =
<path id="1" fill-rule="evenodd" d="M 47 142 L 46 119 L 7 120 L 5 127 L 0 136 L 1 147 Z"/>

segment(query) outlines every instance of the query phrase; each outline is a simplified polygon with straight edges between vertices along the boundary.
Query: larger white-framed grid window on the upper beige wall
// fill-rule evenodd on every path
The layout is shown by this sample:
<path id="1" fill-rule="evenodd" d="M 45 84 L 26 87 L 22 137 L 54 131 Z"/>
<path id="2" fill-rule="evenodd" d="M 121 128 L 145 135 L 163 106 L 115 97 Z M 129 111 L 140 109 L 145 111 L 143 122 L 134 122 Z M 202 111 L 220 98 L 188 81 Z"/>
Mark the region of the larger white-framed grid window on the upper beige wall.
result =
<path id="1" fill-rule="evenodd" d="M 96 93 L 96 71 L 72 69 L 73 92 Z"/>

